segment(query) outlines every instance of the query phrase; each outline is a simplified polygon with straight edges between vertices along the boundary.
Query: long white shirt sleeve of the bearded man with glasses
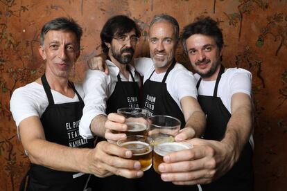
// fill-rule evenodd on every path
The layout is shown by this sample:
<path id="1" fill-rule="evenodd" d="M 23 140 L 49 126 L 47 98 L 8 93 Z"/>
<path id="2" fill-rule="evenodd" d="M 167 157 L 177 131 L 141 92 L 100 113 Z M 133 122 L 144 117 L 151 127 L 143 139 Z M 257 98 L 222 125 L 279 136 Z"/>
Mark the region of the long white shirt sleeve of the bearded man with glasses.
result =
<path id="1" fill-rule="evenodd" d="M 82 118 L 80 120 L 80 135 L 83 138 L 93 138 L 92 131 L 89 126 L 94 117 L 105 115 L 107 95 L 109 95 L 109 75 L 101 71 L 89 70 L 86 73 L 83 82 L 83 90 L 85 93 L 85 107 L 82 110 Z"/>

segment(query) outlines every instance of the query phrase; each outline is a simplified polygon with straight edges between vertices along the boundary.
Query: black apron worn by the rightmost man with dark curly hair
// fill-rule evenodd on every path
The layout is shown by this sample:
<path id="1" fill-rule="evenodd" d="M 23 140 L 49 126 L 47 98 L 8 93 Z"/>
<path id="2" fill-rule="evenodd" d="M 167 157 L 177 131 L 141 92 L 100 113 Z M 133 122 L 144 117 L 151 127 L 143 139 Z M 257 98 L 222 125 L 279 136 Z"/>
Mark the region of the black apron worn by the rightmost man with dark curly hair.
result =
<path id="1" fill-rule="evenodd" d="M 202 110 L 207 115 L 207 129 L 203 138 L 209 140 L 222 140 L 227 123 L 231 117 L 231 113 L 226 109 L 222 100 L 217 97 L 218 84 L 221 75 L 224 73 L 225 68 L 220 66 L 220 72 L 216 79 L 213 96 L 198 95 L 198 102 Z M 201 78 L 198 81 L 197 89 L 200 86 Z M 220 179 L 209 183 L 207 185 L 201 185 L 202 190 L 232 190 L 232 191 L 248 191 L 253 190 L 254 175 L 252 170 L 252 154 L 253 150 L 250 143 L 246 143 L 238 162 L 232 167 L 227 174 L 220 177 Z"/>

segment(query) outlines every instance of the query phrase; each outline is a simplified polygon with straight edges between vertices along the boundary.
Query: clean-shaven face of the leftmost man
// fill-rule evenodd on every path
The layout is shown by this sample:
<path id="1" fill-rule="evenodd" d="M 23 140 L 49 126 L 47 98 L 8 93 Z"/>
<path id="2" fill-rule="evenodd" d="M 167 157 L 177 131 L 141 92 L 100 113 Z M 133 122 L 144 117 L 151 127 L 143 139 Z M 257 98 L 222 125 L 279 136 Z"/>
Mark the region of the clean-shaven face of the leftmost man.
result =
<path id="1" fill-rule="evenodd" d="M 67 78 L 77 61 L 80 51 L 76 34 L 66 30 L 49 30 L 44 36 L 44 45 L 39 47 L 40 55 L 46 60 L 46 73 Z"/>

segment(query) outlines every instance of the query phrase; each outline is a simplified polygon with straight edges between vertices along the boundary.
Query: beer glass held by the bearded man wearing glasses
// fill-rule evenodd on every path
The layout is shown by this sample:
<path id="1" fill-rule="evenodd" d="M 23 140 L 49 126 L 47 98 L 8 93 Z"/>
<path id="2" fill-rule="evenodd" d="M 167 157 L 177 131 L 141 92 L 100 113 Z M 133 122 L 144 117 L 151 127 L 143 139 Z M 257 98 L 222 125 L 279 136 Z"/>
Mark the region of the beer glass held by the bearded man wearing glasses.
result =
<path id="1" fill-rule="evenodd" d="M 125 124 L 128 125 L 128 131 L 125 132 L 127 136 L 147 135 L 148 124 L 146 119 L 150 116 L 147 109 L 125 107 L 118 109 L 117 113 L 125 117 Z M 123 132 L 116 131 L 116 133 Z"/>

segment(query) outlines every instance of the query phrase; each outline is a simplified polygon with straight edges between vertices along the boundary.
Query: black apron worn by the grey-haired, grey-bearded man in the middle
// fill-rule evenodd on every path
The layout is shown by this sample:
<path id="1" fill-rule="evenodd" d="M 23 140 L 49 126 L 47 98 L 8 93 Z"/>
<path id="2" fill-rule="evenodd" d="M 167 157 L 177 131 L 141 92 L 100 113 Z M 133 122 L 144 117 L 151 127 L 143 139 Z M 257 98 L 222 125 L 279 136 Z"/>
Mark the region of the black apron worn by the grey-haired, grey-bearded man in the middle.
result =
<path id="1" fill-rule="evenodd" d="M 178 118 L 182 122 L 182 128 L 185 126 L 184 115 L 178 107 L 177 103 L 166 89 L 166 78 L 168 73 L 175 66 L 176 61 L 173 60 L 171 66 L 168 67 L 164 79 L 162 82 L 151 81 L 150 78 L 146 80 L 143 85 L 143 107 L 148 109 L 153 115 L 168 115 Z M 153 71 L 154 73 L 155 71 Z M 153 75 L 150 75 L 150 77 Z M 171 182 L 164 182 L 160 178 L 160 175 L 150 167 L 149 170 L 143 173 L 141 179 L 138 181 L 138 190 L 198 190 L 197 185 L 175 185 Z"/>

